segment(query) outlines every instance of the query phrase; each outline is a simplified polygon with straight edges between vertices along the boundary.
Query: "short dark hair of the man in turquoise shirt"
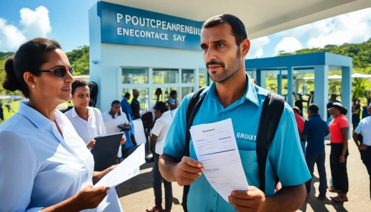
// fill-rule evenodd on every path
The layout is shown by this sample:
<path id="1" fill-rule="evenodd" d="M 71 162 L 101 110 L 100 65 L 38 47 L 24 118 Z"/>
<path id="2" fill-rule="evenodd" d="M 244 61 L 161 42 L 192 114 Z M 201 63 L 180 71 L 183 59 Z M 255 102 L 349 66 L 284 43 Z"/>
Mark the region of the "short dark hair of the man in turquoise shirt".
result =
<path id="1" fill-rule="evenodd" d="M 236 44 L 239 46 L 243 40 L 247 38 L 247 31 L 245 25 L 236 16 L 230 14 L 222 14 L 207 19 L 202 28 L 212 28 L 220 24 L 227 23 L 232 27 L 233 36 L 236 38 Z"/>

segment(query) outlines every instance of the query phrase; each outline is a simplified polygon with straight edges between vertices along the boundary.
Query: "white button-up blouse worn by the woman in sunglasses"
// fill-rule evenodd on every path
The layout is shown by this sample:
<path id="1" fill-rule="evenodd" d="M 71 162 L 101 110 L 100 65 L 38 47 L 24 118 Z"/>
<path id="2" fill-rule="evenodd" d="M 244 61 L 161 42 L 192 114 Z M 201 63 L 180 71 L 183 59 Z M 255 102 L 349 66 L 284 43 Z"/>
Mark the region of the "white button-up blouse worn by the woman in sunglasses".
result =
<path id="1" fill-rule="evenodd" d="M 93 184 L 93 156 L 68 118 L 55 111 L 62 137 L 54 122 L 27 104 L 21 101 L 0 125 L 0 211 L 37 212 Z M 122 211 L 116 192 L 107 201 L 106 209 Z"/>

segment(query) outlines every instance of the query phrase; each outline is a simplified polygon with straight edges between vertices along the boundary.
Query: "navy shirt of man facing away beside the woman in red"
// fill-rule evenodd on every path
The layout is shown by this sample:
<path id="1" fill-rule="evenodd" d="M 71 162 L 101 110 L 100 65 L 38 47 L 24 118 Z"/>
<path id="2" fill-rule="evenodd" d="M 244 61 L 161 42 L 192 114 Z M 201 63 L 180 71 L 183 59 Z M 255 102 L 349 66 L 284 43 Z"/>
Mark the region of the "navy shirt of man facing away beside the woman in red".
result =
<path id="1" fill-rule="evenodd" d="M 327 123 L 319 114 L 310 117 L 304 123 L 302 135 L 307 135 L 306 154 L 324 154 L 325 136 L 328 131 Z"/>

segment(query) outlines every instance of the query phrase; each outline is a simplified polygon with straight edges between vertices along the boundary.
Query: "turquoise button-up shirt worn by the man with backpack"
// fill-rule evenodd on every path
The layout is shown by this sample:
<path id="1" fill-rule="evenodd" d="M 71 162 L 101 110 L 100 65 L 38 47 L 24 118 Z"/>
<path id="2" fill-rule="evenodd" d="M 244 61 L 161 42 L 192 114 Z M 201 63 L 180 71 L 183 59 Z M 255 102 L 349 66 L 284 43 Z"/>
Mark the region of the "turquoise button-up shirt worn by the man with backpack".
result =
<path id="1" fill-rule="evenodd" d="M 256 158 L 256 135 L 262 112 L 263 101 L 267 90 L 255 86 L 247 76 L 245 95 L 224 108 L 215 90 L 215 83 L 207 87 L 203 93 L 204 101 L 198 110 L 193 125 L 218 122 L 231 118 L 237 140 L 242 166 L 247 182 L 259 188 L 258 164 Z M 178 111 L 171 122 L 165 138 L 164 153 L 181 161 L 185 155 L 185 113 L 193 93 L 184 97 Z M 190 158 L 197 160 L 192 141 L 190 142 Z M 268 152 L 266 163 L 266 195 L 275 193 L 275 171 L 282 186 L 294 186 L 311 179 L 300 144 L 298 127 L 291 107 L 285 104 L 275 139 Z M 233 206 L 226 202 L 210 186 L 204 174 L 190 186 L 187 201 L 188 211 L 234 212 Z"/>

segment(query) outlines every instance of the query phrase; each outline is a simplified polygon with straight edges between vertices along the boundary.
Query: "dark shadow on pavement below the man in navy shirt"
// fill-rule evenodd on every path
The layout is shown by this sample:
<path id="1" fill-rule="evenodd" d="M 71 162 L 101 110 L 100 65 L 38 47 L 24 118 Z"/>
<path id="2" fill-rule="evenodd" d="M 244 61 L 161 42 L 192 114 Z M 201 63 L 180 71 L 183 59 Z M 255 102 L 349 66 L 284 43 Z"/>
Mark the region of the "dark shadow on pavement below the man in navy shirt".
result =
<path id="1" fill-rule="evenodd" d="M 306 212 L 307 205 L 309 204 L 313 211 L 328 212 L 329 210 L 326 208 L 325 205 L 332 205 L 336 212 L 348 212 L 347 209 L 344 208 L 343 203 L 336 203 L 331 201 L 330 199 L 327 200 L 317 199 L 317 197 L 315 196 L 316 191 L 314 187 L 315 182 L 319 182 L 319 179 L 316 176 L 313 176 L 311 186 L 311 198 L 308 201 L 304 202 L 299 210 Z"/>

